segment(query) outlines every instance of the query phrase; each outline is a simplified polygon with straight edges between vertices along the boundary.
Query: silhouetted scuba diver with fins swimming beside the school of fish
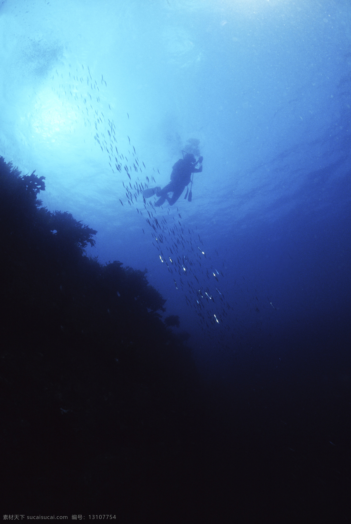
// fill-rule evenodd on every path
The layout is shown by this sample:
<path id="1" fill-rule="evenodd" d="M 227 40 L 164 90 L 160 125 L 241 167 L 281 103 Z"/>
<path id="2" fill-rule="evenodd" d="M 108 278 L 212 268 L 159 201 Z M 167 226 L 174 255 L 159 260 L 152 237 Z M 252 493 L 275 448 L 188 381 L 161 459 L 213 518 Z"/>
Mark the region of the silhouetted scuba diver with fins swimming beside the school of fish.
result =
<path id="1" fill-rule="evenodd" d="M 172 173 L 171 173 L 171 181 L 169 184 L 167 184 L 163 189 L 160 187 L 156 187 L 153 189 L 146 189 L 142 193 L 145 198 L 149 198 L 153 194 L 156 194 L 156 196 L 159 196 L 158 201 L 156 202 L 155 206 L 160 206 L 164 203 L 165 200 L 168 201 L 169 205 L 173 205 L 177 200 L 179 199 L 180 195 L 185 189 L 186 185 L 189 185 L 191 182 L 190 191 L 187 189 L 187 193 L 185 194 L 185 199 L 188 196 L 188 201 L 191 202 L 192 199 L 192 173 L 201 173 L 202 172 L 202 160 L 203 157 L 200 157 L 199 160 L 196 161 L 194 155 L 192 153 L 185 153 L 183 158 L 180 158 L 177 162 L 175 162 Z M 199 168 L 195 168 L 196 165 L 200 164 Z M 173 193 L 171 197 L 168 196 L 168 193 Z"/>

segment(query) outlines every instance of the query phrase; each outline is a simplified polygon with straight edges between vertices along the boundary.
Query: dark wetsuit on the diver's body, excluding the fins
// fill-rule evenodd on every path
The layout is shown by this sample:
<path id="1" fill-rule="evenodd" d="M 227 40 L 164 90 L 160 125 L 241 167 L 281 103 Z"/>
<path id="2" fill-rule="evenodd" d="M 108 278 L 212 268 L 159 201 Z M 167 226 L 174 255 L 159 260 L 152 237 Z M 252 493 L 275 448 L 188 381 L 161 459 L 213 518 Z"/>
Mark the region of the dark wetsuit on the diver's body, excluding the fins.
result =
<path id="1" fill-rule="evenodd" d="M 185 189 L 185 186 L 190 184 L 191 173 L 201 173 L 202 164 L 199 169 L 196 169 L 195 163 L 190 162 L 181 158 L 178 162 L 175 162 L 172 173 L 171 181 L 163 189 L 161 189 L 157 196 L 160 196 L 156 202 L 156 206 L 160 206 L 164 203 L 165 200 L 168 201 L 169 205 L 173 205 L 179 199 L 180 195 Z M 168 193 L 173 192 L 171 198 L 169 198 Z"/>

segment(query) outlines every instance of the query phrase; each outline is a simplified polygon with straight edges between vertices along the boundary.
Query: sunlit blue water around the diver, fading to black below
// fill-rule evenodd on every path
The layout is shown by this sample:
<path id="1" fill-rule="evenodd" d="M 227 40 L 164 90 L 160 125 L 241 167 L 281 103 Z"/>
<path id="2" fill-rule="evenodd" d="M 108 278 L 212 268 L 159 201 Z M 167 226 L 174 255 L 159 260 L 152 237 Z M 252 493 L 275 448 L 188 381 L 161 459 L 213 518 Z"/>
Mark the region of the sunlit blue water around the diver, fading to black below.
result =
<path id="1" fill-rule="evenodd" d="M 88 255 L 147 268 L 209 376 L 297 351 L 327 373 L 348 347 L 350 27 L 347 1 L 0 6 L 0 155 L 98 231 Z M 129 203 L 124 185 L 166 185 L 191 138 L 192 201 Z"/>

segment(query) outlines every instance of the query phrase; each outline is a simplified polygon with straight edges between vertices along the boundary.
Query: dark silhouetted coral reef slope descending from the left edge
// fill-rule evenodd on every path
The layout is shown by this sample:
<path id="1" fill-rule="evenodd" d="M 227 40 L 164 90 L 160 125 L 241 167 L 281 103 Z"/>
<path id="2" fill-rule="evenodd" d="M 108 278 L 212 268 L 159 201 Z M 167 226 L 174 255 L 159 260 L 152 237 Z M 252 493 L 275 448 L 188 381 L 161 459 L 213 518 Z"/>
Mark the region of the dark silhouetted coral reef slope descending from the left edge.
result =
<path id="1" fill-rule="evenodd" d="M 96 231 L 43 208 L 44 189 L 0 157 L 6 511 L 145 519 L 181 484 L 195 366 L 146 271 L 87 257 Z"/>

